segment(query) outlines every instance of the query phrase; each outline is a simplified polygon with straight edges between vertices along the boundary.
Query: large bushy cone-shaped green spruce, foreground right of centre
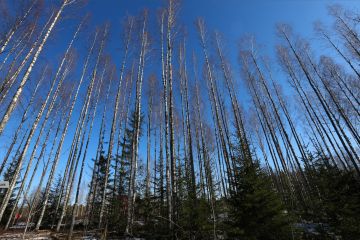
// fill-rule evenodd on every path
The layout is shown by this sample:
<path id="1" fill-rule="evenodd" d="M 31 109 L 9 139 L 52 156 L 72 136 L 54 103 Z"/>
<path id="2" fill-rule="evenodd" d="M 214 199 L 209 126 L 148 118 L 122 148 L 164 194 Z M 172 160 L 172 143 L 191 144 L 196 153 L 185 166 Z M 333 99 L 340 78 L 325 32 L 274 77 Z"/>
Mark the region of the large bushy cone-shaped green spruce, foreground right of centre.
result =
<path id="1" fill-rule="evenodd" d="M 289 239 L 289 216 L 271 178 L 241 141 L 234 157 L 229 202 L 229 237 L 240 239 Z M 244 145 L 245 144 L 245 145 Z"/>

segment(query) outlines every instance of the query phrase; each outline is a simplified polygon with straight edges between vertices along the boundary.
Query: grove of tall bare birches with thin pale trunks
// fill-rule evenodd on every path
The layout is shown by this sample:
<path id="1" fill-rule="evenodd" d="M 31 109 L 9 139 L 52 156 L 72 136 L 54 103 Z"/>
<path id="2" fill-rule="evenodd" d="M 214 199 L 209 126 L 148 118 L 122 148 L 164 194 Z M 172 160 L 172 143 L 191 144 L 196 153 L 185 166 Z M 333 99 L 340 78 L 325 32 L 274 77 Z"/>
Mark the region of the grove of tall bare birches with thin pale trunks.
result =
<path id="1" fill-rule="evenodd" d="M 114 26 L 86 34 L 87 16 L 77 20 L 60 59 L 39 61 L 48 57 L 43 51 L 53 47 L 48 40 L 67 9 L 79 1 L 61 0 L 50 13 L 42 1 L 24 1 L 13 6 L 15 16 L 5 2 L 0 3 L 5 143 L 0 174 L 9 181 L 1 192 L 5 229 L 22 218 L 24 234 L 29 228 L 58 232 L 65 226 L 71 239 L 85 205 L 84 232 L 100 229 L 106 237 L 115 229 L 132 235 L 144 219 L 146 226 L 160 224 L 168 237 L 216 239 L 222 201 L 239 191 L 234 185 L 239 158 L 256 156 L 291 207 L 322 197 L 308 171 L 315 168 L 314 153 L 326 165 L 360 177 L 357 13 L 333 6 L 334 26 L 316 24 L 319 41 L 335 57 L 318 58 L 310 42 L 285 24 L 277 26 L 277 59 L 262 55 L 254 37 L 244 37 L 237 76 L 221 34 L 208 32 L 203 19 L 195 24 L 198 49 L 188 50 L 189 39 L 177 23 L 179 3 L 169 0 L 153 32 L 146 10 L 125 19 L 117 73 L 117 63 L 106 54 Z M 86 47 L 76 51 L 79 44 Z M 239 85 L 249 93 L 245 108 Z M 204 205 L 206 213 L 196 210 Z M 50 222 L 44 221 L 47 213 Z M 202 230 L 203 218 L 210 231 Z"/>

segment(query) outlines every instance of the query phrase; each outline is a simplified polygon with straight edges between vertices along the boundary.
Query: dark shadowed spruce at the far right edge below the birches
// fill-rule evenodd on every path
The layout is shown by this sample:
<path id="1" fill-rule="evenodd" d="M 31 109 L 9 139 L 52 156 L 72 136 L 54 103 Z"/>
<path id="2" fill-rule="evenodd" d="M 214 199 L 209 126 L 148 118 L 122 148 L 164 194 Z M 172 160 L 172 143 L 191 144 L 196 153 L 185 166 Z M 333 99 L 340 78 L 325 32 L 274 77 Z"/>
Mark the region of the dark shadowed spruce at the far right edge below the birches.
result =
<path id="1" fill-rule="evenodd" d="M 315 231 L 325 239 L 334 235 L 359 239 L 360 192 L 355 169 L 339 169 L 319 153 L 309 153 L 308 159 L 313 167 L 307 174 L 317 189 L 312 192 L 311 209 L 301 212 L 304 220 L 315 223 Z"/>

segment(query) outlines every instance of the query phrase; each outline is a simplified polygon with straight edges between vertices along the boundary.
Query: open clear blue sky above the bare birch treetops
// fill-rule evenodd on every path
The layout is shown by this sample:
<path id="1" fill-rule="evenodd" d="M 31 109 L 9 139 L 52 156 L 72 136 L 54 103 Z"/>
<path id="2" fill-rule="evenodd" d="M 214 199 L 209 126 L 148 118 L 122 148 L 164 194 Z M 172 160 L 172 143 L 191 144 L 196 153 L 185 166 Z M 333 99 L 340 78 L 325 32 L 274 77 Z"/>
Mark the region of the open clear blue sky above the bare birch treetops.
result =
<path id="1" fill-rule="evenodd" d="M 276 42 L 275 24 L 289 23 L 303 36 L 312 34 L 312 25 L 316 20 L 329 20 L 326 7 L 341 4 L 353 10 L 359 10 L 356 0 L 182 0 L 178 23 L 186 26 L 190 37 L 194 32 L 194 21 L 203 17 L 209 29 L 222 32 L 231 45 L 244 33 L 254 34 L 259 42 L 273 46 Z M 89 0 L 83 11 L 92 12 L 94 22 L 110 21 L 113 28 L 119 29 L 123 16 L 137 15 L 148 8 L 154 13 L 165 5 L 163 0 Z M 154 21 L 153 23 L 154 24 Z M 113 29 L 115 30 L 115 29 Z M 115 31 L 113 34 L 115 34 Z M 196 39 L 192 39 L 196 40 Z"/>

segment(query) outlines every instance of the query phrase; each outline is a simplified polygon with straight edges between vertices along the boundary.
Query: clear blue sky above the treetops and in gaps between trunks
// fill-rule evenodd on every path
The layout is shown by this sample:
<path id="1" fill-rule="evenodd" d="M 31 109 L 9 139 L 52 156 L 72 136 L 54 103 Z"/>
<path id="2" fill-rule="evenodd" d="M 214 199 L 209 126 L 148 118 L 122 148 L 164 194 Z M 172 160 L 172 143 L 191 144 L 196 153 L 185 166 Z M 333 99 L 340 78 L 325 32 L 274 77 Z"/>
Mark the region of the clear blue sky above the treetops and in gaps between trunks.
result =
<path id="1" fill-rule="evenodd" d="M 45 2 L 53 3 L 54 1 L 47 0 Z M 105 52 L 113 57 L 113 60 L 118 67 L 117 74 L 119 74 L 119 65 L 122 59 L 122 19 L 126 15 L 139 15 L 144 8 L 148 8 L 150 16 L 149 30 L 151 34 L 153 34 L 152 38 L 154 41 L 158 43 L 159 36 L 156 35 L 158 34 L 156 14 L 161 7 L 165 6 L 165 3 L 166 2 L 163 0 L 88 0 L 87 5 L 65 12 L 65 16 L 70 19 L 67 18 L 56 27 L 51 41 L 44 49 L 41 59 L 56 59 L 56 57 L 60 56 L 70 40 L 71 34 L 77 24 L 77 21 L 74 21 L 74 18 L 79 19 L 87 12 L 90 12 L 92 20 L 87 27 L 88 32 L 93 31 L 96 25 L 101 25 L 105 22 L 111 23 L 110 41 Z M 303 37 L 314 39 L 313 22 L 321 20 L 327 25 L 331 24 L 331 18 L 327 14 L 326 7 L 329 4 L 334 3 L 339 3 L 345 8 L 353 9 L 355 11 L 360 10 L 360 1 L 355 0 L 182 0 L 177 23 L 178 25 L 185 26 L 187 29 L 188 56 L 190 56 L 193 49 L 197 49 L 195 51 L 198 53 L 198 58 L 202 58 L 201 52 L 198 50 L 199 41 L 194 25 L 194 21 L 198 17 L 205 19 L 209 34 L 213 30 L 221 32 L 225 39 L 226 52 L 232 62 L 234 78 L 237 82 L 240 82 L 240 74 L 237 67 L 237 55 L 238 42 L 241 36 L 244 34 L 255 35 L 258 43 L 263 45 L 263 53 L 270 56 L 270 58 L 274 58 L 274 46 L 278 41 L 275 34 L 275 25 L 277 23 L 288 23 L 293 27 L 294 32 L 300 33 Z M 317 44 L 316 41 L 313 47 L 315 47 L 316 51 L 321 53 L 326 53 L 327 51 L 324 45 L 320 43 Z M 77 48 L 79 52 L 83 52 L 84 44 L 81 42 L 78 43 Z M 82 58 L 84 58 L 84 56 L 80 57 L 81 61 Z M 156 61 L 157 60 L 150 61 L 150 64 L 145 67 L 145 77 L 153 71 L 156 71 L 156 68 L 154 67 L 158 65 Z M 273 70 L 277 71 L 276 67 L 274 68 L 275 69 Z M 160 69 L 158 69 L 156 74 L 159 76 Z M 241 87 L 241 84 L 239 84 L 238 87 L 239 97 L 242 99 L 242 104 L 246 107 L 248 104 L 248 99 L 244 97 L 246 96 L 246 91 Z M 113 103 L 113 101 L 110 102 Z M 146 100 L 143 101 L 143 104 L 143 109 L 146 110 Z M 102 109 L 102 107 L 98 107 L 98 109 Z M 111 114 L 108 113 L 108 121 L 111 119 L 110 115 Z M 110 121 L 108 123 L 108 126 L 109 125 Z M 90 151 L 88 152 L 88 159 L 95 156 L 98 128 L 99 126 L 95 126 L 93 130 L 94 134 Z M 69 133 L 70 134 L 68 134 L 66 138 L 67 142 L 62 151 L 62 158 L 59 164 L 60 172 L 67 160 L 67 150 L 71 144 L 73 133 L 72 128 L 70 128 Z M 8 129 L 1 141 L 7 142 L 9 139 L 4 139 L 4 136 L 9 136 L 10 134 L 11 129 Z M 107 134 L 109 134 L 109 131 L 107 131 Z M 2 152 L 4 145 L 6 144 L 1 144 Z M 145 158 L 145 150 L 146 145 L 143 140 L 140 143 L 140 155 L 142 159 Z M 28 153 L 28 156 L 29 155 L 30 153 Z M 90 160 L 87 165 L 89 164 L 91 164 Z M 89 180 L 89 174 L 90 169 L 87 169 L 85 181 Z"/>

